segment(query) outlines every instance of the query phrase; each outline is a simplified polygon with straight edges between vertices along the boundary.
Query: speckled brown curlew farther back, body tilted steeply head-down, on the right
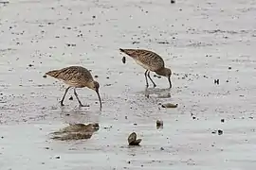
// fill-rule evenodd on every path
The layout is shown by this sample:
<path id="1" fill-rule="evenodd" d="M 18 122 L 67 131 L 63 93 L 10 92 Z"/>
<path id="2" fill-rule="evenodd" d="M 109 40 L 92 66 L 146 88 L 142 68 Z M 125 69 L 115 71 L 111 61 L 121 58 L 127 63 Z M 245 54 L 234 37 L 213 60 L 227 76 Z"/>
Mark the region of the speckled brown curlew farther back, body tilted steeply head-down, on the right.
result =
<path id="1" fill-rule="evenodd" d="M 170 88 L 172 88 L 171 76 L 172 71 L 169 68 L 165 68 L 164 60 L 153 51 L 144 50 L 144 49 L 122 49 L 119 48 L 120 52 L 125 53 L 131 58 L 137 61 L 137 64 L 146 69 L 145 78 L 146 86 L 149 87 L 148 78 L 150 78 L 154 87 L 155 82 L 150 76 L 150 71 L 155 72 L 158 76 L 166 76 L 168 78 Z"/>

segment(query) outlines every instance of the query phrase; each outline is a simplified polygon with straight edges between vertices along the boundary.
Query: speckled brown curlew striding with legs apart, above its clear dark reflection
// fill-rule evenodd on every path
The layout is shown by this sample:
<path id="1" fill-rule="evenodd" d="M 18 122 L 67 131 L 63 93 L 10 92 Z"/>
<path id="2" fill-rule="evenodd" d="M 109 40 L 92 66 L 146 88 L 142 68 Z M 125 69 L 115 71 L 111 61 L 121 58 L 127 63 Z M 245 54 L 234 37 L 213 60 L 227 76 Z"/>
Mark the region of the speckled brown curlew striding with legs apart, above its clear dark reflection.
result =
<path id="1" fill-rule="evenodd" d="M 101 96 L 99 93 L 100 84 L 93 79 L 91 73 L 87 69 L 81 66 L 70 66 L 60 70 L 49 71 L 46 73 L 46 75 L 64 80 L 64 83 L 69 85 L 64 92 L 63 99 L 61 100 L 61 106 L 64 106 L 65 94 L 71 87 L 74 87 L 74 94 L 81 107 L 87 107 L 87 105 L 82 105 L 82 102 L 78 97 L 78 93 L 76 92 L 76 88 L 87 87 L 94 90 L 98 94 L 101 104 Z"/>

